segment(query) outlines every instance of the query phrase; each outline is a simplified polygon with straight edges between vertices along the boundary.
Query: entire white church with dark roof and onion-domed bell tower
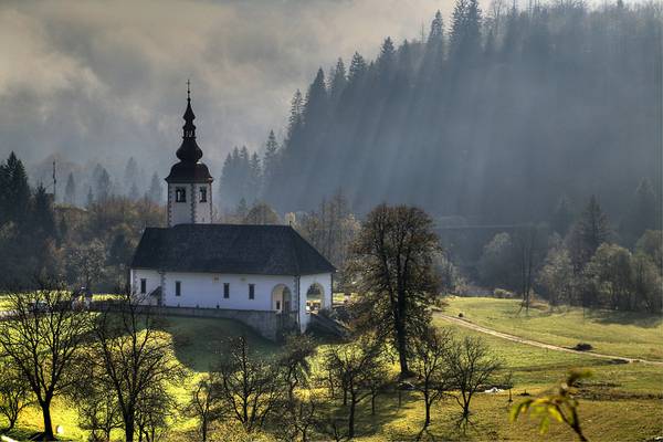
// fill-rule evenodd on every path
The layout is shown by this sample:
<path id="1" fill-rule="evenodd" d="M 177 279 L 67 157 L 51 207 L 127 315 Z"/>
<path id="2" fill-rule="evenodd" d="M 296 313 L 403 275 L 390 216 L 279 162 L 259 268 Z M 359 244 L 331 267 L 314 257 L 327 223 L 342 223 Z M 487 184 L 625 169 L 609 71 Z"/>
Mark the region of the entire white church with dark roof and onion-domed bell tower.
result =
<path id="1" fill-rule="evenodd" d="M 234 318 L 269 337 L 284 324 L 304 332 L 313 304 L 332 306 L 334 265 L 290 225 L 212 223 L 213 178 L 200 161 L 190 92 L 183 118 L 179 162 L 166 178 L 168 227 L 143 233 L 133 292 L 167 311 Z"/>

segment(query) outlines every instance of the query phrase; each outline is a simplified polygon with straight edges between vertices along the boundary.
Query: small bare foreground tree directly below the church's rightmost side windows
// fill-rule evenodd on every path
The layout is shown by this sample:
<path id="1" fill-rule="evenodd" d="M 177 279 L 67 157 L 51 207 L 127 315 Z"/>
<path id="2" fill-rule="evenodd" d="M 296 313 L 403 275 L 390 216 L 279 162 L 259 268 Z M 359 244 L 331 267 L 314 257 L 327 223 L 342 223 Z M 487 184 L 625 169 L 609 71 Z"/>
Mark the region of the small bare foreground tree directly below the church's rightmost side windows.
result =
<path id="1" fill-rule="evenodd" d="M 219 400 L 246 432 L 262 428 L 284 393 L 276 368 L 252 354 L 246 338 L 229 341 L 219 365 Z"/>

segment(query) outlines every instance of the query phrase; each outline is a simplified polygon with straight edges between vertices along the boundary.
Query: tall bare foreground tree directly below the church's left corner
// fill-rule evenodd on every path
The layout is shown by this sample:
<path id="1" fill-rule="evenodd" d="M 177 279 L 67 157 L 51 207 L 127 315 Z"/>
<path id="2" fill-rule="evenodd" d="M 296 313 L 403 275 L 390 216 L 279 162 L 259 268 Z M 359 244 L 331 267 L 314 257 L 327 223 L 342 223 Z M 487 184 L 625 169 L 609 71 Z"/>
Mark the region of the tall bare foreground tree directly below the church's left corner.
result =
<path id="1" fill-rule="evenodd" d="M 99 378 L 117 399 L 125 430 L 125 440 L 141 438 L 138 415 L 155 421 L 146 407 L 168 403 L 166 387 L 182 377 L 182 370 L 171 358 L 171 341 L 159 330 L 158 318 L 141 298 L 125 293 L 117 308 L 107 309 L 94 327 L 95 356 Z M 148 400 L 162 392 L 160 401 Z M 162 410 L 159 408 L 159 410 Z M 151 410 L 154 411 L 154 410 Z M 143 425 L 145 427 L 145 425 Z"/>

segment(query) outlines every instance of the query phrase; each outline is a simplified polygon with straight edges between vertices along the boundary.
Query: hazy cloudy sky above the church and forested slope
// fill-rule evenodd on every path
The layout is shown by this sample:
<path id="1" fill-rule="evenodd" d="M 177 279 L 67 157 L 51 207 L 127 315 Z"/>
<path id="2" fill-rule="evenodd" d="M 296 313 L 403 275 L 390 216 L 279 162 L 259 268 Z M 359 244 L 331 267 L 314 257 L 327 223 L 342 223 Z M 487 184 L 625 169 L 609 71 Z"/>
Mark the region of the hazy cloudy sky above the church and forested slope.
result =
<path id="1" fill-rule="evenodd" d="M 282 138 L 293 92 L 318 66 L 356 50 L 373 57 L 387 35 L 417 38 L 452 4 L 3 1 L 0 155 L 34 164 L 66 152 L 112 167 L 133 155 L 151 173 L 175 158 L 190 77 L 203 160 L 218 176 L 233 146 L 253 149 L 270 128 Z"/>

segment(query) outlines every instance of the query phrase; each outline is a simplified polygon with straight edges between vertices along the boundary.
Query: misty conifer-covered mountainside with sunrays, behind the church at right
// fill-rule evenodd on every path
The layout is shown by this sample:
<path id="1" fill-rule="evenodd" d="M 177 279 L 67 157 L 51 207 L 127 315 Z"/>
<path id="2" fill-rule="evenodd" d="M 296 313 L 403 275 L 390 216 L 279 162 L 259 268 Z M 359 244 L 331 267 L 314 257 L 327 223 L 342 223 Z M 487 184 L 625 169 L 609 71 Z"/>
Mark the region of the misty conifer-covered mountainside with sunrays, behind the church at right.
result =
<path id="1" fill-rule="evenodd" d="M 459 0 L 428 35 L 387 38 L 295 93 L 262 199 L 308 210 L 343 188 L 358 213 L 407 201 L 514 222 L 597 193 L 618 218 L 643 178 L 661 188 L 662 52 L 653 3 Z"/>

